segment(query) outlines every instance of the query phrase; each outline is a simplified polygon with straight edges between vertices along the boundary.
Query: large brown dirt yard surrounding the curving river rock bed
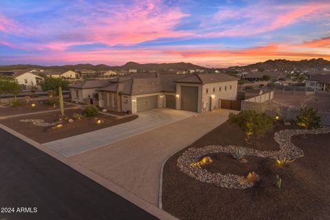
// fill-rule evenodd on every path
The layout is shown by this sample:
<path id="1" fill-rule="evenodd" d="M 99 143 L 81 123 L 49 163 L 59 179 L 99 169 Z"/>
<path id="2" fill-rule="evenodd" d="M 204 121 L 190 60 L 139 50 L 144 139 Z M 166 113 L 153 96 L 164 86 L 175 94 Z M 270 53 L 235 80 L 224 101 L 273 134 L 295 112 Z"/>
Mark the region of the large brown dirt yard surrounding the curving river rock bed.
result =
<path id="1" fill-rule="evenodd" d="M 297 129 L 276 123 L 275 131 Z M 243 140 L 245 134 L 226 122 L 190 147 L 209 144 L 234 144 L 259 150 L 278 149 L 274 132 L 252 144 Z M 164 166 L 162 204 L 164 210 L 179 219 L 330 219 L 330 134 L 292 137 L 305 156 L 285 167 L 274 159 L 246 157 L 243 164 L 225 153 L 212 154 L 213 164 L 204 166 L 210 172 L 248 175 L 254 171 L 261 177 L 256 186 L 245 190 L 221 188 L 197 181 L 177 168 L 176 153 Z M 282 178 L 276 188 L 275 176 Z"/>

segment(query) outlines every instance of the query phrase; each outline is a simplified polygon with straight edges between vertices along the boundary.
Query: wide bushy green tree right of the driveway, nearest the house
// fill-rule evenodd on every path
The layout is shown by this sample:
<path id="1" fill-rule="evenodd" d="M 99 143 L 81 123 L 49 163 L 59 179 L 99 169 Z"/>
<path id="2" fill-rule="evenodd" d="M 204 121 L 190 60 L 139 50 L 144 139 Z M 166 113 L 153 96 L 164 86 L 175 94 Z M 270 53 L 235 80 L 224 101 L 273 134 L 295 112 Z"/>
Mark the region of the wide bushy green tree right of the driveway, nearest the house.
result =
<path id="1" fill-rule="evenodd" d="M 250 140 L 252 135 L 255 137 L 263 137 L 274 127 L 273 118 L 266 113 L 257 113 L 254 110 L 244 110 L 236 115 L 230 113 L 229 122 L 240 126 L 248 136 L 247 140 Z"/>

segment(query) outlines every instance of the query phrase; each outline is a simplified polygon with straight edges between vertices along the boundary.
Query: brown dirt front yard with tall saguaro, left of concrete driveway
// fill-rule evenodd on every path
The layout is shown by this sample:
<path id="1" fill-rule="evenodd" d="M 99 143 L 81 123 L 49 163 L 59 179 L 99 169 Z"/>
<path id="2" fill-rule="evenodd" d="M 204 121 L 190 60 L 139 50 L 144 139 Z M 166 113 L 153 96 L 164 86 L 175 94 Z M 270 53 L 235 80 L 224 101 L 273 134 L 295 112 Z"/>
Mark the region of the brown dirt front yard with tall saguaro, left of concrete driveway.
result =
<path id="1" fill-rule="evenodd" d="M 72 118 L 73 113 L 81 113 L 82 109 L 66 109 L 65 115 Z M 117 118 L 110 115 L 104 115 L 100 113 L 96 117 L 83 118 L 82 120 L 74 119 L 74 122 L 63 122 L 63 127 L 61 129 L 52 129 L 52 126 L 36 126 L 32 122 L 20 122 L 24 119 L 42 119 L 45 122 L 51 123 L 58 120 L 59 112 L 48 112 L 48 113 L 36 113 L 33 115 L 24 115 L 15 118 L 8 118 L 5 120 L 0 120 L 1 124 L 10 127 L 11 129 L 22 133 L 23 135 L 30 137 L 39 143 L 51 142 L 53 140 L 63 139 L 65 137 L 71 137 L 74 135 L 79 135 L 81 133 L 87 133 L 89 131 L 95 131 L 98 129 L 103 129 L 115 124 L 121 124 L 124 122 L 129 122 L 137 118 L 137 115 L 132 115 L 127 118 Z M 95 118 L 103 120 L 104 123 L 96 124 Z"/>

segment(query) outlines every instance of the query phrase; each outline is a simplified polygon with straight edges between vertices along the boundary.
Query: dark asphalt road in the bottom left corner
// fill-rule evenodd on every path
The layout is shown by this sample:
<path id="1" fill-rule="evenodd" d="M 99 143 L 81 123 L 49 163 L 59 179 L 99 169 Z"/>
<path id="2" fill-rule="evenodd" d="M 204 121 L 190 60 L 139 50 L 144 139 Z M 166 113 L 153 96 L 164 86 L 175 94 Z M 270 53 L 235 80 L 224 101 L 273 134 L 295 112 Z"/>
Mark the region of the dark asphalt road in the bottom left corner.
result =
<path id="1" fill-rule="evenodd" d="M 156 219 L 69 166 L 0 129 L 0 219 Z M 1 210 L 0 210 L 1 211 Z"/>

